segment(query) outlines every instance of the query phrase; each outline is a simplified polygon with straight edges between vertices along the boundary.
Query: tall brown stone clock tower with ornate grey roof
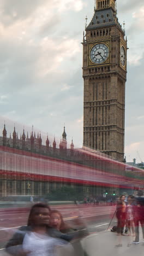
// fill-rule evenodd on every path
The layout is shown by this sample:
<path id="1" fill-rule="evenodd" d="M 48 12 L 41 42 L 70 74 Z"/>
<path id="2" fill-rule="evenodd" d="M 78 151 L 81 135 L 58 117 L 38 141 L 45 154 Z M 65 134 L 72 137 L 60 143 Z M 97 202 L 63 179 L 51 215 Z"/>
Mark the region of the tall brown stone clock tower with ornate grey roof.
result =
<path id="1" fill-rule="evenodd" d="M 116 0 L 96 0 L 83 36 L 83 146 L 124 160 L 127 39 Z"/>

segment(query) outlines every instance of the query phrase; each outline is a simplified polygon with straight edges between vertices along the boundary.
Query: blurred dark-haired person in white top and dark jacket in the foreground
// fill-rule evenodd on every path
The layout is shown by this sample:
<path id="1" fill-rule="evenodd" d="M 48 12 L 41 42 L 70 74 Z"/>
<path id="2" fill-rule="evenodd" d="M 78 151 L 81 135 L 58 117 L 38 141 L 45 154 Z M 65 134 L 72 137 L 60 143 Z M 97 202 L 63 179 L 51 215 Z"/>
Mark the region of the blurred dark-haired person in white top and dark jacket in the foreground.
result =
<path id="1" fill-rule="evenodd" d="M 22 226 L 14 234 L 6 245 L 6 251 L 17 256 L 53 256 L 57 246 L 67 245 L 68 242 L 54 238 L 56 234 L 50 228 L 49 221 L 50 207 L 44 203 L 33 205 L 27 226 Z"/>

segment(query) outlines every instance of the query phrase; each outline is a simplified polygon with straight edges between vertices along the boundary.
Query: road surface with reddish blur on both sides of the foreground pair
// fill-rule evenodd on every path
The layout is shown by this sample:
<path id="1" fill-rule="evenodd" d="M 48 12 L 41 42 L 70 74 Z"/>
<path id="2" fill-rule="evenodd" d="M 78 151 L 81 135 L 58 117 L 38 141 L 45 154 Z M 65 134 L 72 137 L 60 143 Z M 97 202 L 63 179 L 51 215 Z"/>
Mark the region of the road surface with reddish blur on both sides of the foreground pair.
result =
<path id="1" fill-rule="evenodd" d="M 90 234 L 104 231 L 109 226 L 110 220 L 115 212 L 115 206 L 83 206 L 67 205 L 52 206 L 52 209 L 59 210 L 65 221 L 71 222 L 79 217 L 85 219 Z M 27 224 L 28 208 L 9 208 L 0 210 L 0 248 L 14 234 L 17 228 Z M 114 220 L 113 220 L 114 221 Z"/>

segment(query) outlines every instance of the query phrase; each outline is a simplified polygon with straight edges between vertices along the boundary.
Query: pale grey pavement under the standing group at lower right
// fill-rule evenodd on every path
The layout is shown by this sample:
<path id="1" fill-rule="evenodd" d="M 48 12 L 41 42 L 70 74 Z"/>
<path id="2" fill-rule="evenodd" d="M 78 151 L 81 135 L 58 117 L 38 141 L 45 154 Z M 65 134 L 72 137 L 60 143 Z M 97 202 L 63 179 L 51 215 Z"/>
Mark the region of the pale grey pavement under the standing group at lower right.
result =
<path id="1" fill-rule="evenodd" d="M 135 237 L 131 237 L 131 241 Z M 82 246 L 87 252 L 88 256 L 143 256 L 144 240 L 142 239 L 141 227 L 140 227 L 140 243 L 138 245 L 132 244 L 127 247 L 129 237 L 127 235 L 122 236 L 122 247 L 115 247 L 118 242 L 118 236 L 116 233 L 109 231 L 102 231 L 89 235 L 82 240 Z M 8 256 L 4 251 L 0 251 L 0 256 Z M 81 255 L 79 255 L 81 256 Z"/>

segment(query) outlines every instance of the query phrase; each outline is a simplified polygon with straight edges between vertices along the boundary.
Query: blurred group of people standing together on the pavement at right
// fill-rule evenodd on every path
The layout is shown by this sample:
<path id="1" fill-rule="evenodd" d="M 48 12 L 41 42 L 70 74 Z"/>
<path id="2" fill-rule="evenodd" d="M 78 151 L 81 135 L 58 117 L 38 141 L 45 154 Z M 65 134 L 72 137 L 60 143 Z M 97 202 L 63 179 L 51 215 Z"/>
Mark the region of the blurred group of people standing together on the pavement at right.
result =
<path id="1" fill-rule="evenodd" d="M 125 195 L 119 197 L 116 217 L 118 235 L 117 247 L 122 246 L 121 236 L 124 235 L 124 233 L 129 236 L 128 246 L 131 245 L 131 237 L 135 237 L 132 243 L 139 243 L 139 224 L 141 225 L 144 239 L 144 197 L 142 191 L 138 191 L 137 197 L 133 195 L 129 195 L 127 199 Z"/>

